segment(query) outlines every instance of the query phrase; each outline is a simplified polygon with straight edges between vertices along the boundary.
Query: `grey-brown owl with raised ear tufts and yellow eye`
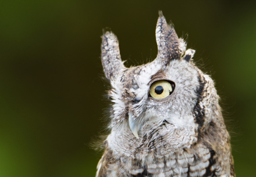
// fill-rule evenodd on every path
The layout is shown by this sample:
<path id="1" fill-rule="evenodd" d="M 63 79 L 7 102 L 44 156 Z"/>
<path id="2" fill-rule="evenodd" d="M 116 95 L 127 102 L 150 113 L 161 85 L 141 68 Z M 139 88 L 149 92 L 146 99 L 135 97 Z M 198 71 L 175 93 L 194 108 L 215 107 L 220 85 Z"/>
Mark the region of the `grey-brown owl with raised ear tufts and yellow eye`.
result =
<path id="1" fill-rule="evenodd" d="M 186 49 L 162 12 L 155 35 L 157 58 L 130 68 L 118 38 L 102 36 L 112 104 L 96 176 L 235 176 L 214 81 L 195 66 L 195 50 Z"/>

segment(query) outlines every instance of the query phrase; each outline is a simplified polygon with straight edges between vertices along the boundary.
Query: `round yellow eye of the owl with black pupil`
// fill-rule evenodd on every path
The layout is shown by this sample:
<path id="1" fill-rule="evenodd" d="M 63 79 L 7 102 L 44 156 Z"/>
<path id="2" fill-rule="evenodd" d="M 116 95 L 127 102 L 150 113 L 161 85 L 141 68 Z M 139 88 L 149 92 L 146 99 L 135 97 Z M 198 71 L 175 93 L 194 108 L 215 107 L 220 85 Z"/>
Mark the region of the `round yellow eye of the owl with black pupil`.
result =
<path id="1" fill-rule="evenodd" d="M 174 89 L 174 85 L 168 81 L 155 81 L 150 86 L 150 95 L 155 99 L 163 99 L 168 97 Z"/>

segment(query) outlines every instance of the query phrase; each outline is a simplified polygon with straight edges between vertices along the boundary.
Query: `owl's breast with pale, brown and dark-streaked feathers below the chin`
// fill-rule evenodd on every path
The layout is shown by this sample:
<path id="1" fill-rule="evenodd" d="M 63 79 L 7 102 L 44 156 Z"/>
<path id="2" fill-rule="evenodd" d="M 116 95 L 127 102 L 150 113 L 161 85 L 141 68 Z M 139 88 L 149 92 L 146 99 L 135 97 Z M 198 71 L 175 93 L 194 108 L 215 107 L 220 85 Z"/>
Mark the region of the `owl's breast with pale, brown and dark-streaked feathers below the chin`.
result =
<path id="1" fill-rule="evenodd" d="M 152 154 L 144 160 L 127 156 L 113 160 L 113 151 L 102 158 L 109 161 L 108 176 L 219 176 L 222 168 L 214 156 L 214 150 L 197 145 L 164 156 Z"/>

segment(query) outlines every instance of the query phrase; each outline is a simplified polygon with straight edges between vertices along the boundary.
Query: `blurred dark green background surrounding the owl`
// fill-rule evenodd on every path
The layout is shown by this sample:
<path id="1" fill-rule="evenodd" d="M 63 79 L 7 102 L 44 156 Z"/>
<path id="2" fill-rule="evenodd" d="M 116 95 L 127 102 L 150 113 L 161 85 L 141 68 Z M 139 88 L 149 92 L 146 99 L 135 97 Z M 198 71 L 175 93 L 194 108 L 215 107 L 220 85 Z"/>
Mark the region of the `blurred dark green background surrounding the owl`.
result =
<path id="1" fill-rule="evenodd" d="M 102 29 L 126 66 L 157 55 L 158 10 L 212 75 L 237 176 L 255 176 L 255 1 L 1 1 L 0 176 L 94 176 L 104 129 Z"/>

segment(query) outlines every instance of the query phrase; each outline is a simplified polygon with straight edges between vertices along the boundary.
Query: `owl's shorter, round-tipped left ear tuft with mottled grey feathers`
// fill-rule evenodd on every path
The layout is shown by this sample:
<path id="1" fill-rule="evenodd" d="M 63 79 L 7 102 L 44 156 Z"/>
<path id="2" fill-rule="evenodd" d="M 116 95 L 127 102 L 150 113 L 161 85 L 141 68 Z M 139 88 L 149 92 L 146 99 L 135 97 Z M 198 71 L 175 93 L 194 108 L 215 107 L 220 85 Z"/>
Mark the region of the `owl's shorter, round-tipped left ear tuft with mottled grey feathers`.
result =
<path id="1" fill-rule="evenodd" d="M 118 38 L 111 31 L 103 31 L 101 44 L 101 63 L 106 78 L 111 80 L 125 68 L 120 56 Z"/>

